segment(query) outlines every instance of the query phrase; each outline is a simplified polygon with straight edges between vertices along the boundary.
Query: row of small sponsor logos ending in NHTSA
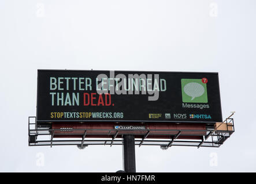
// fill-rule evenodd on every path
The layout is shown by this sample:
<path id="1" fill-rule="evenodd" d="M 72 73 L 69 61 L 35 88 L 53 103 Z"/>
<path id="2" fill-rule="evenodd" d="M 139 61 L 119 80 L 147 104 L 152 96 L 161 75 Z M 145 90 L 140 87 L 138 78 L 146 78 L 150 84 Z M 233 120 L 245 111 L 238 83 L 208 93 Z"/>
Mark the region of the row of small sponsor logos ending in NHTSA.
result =
<path id="1" fill-rule="evenodd" d="M 149 114 L 149 118 L 158 119 L 161 118 L 162 114 Z M 212 119 L 209 114 L 186 114 L 186 113 L 165 113 L 165 119 Z"/>

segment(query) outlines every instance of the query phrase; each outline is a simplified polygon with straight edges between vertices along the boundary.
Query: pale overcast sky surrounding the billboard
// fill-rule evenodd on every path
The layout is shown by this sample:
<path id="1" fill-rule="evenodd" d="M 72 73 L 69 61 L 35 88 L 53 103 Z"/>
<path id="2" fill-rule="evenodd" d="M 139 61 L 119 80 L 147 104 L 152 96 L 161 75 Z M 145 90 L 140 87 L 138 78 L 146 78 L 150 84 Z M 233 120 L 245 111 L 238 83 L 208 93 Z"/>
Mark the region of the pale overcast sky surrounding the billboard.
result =
<path id="1" fill-rule="evenodd" d="M 1 0 L 0 171 L 123 169 L 117 145 L 28 147 L 37 70 L 92 68 L 219 72 L 236 132 L 220 148 L 136 147 L 136 171 L 255 172 L 255 9 L 254 0 Z"/>

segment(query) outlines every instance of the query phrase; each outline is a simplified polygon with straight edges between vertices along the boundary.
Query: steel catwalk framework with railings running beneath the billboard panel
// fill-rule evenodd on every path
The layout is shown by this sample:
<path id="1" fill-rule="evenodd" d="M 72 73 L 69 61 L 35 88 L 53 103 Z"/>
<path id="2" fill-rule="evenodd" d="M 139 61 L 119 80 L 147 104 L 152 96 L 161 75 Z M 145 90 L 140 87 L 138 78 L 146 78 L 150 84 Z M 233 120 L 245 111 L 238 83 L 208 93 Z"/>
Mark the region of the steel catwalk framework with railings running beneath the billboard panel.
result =
<path id="1" fill-rule="evenodd" d="M 232 126 L 232 131 L 217 131 L 216 129 L 196 130 L 198 134 L 193 134 L 195 130 L 187 129 L 145 129 L 145 130 L 132 130 L 132 135 L 140 136 L 142 138 L 135 139 L 135 145 L 139 147 L 142 145 L 158 145 L 163 150 L 172 146 L 190 146 L 190 147 L 220 147 L 225 140 L 227 140 L 233 132 L 235 132 L 233 118 L 226 118 L 222 123 L 227 124 L 227 130 L 229 126 Z M 61 133 L 57 133 L 60 132 Z M 106 133 L 97 133 L 106 132 Z M 163 133 L 161 133 L 163 132 Z M 202 133 L 205 135 L 202 136 Z M 120 129 L 51 129 L 50 127 L 38 127 L 36 125 L 36 117 L 28 117 L 28 145 L 29 146 L 50 146 L 53 145 L 76 145 L 77 147 L 84 148 L 88 145 L 123 145 L 122 138 L 118 136 L 131 135 L 131 131 Z M 54 136 L 80 136 L 81 138 L 58 138 Z M 94 139 L 88 138 L 88 136 L 101 136 L 109 135 L 111 138 Z M 149 139 L 149 135 L 168 135 L 169 139 Z M 179 136 L 202 136 L 202 140 L 192 139 L 178 139 Z M 50 139 L 44 139 L 44 137 L 50 137 Z"/>

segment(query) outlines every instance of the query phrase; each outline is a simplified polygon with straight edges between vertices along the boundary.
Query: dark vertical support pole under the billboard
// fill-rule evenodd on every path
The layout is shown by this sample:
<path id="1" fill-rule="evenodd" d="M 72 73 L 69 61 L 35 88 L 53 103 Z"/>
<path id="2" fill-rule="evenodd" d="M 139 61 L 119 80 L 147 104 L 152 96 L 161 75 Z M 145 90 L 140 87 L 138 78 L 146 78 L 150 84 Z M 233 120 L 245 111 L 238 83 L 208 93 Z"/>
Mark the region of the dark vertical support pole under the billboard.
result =
<path id="1" fill-rule="evenodd" d="M 124 135 L 124 171 L 125 173 L 136 173 L 135 164 L 135 140 L 134 135 Z"/>

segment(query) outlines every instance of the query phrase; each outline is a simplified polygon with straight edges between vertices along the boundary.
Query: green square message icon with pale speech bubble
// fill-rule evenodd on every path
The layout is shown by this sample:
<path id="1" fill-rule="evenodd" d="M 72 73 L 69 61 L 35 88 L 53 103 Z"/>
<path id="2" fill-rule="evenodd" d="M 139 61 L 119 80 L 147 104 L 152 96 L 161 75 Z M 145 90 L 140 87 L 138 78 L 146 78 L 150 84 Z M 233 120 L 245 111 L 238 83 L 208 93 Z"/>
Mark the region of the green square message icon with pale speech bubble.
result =
<path id="1" fill-rule="evenodd" d="M 188 103 L 207 103 L 206 83 L 202 79 L 181 79 L 182 101 Z"/>

